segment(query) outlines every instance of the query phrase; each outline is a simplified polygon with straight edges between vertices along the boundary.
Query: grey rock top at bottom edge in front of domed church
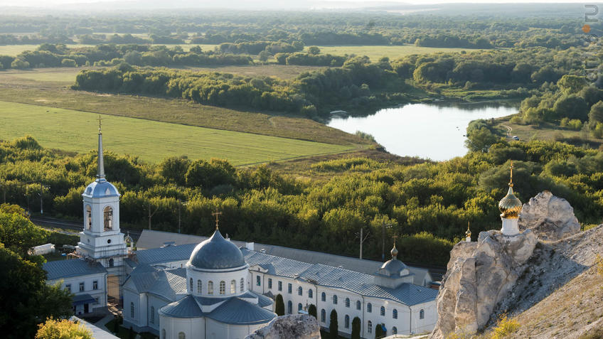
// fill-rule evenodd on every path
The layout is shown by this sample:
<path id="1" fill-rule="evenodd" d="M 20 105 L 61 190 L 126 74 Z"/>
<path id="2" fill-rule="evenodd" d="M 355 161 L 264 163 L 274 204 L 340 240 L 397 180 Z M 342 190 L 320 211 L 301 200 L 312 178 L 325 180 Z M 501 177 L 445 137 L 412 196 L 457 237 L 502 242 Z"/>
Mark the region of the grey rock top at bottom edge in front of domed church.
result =
<path id="1" fill-rule="evenodd" d="M 279 316 L 245 339 L 320 339 L 319 322 L 313 316 Z"/>

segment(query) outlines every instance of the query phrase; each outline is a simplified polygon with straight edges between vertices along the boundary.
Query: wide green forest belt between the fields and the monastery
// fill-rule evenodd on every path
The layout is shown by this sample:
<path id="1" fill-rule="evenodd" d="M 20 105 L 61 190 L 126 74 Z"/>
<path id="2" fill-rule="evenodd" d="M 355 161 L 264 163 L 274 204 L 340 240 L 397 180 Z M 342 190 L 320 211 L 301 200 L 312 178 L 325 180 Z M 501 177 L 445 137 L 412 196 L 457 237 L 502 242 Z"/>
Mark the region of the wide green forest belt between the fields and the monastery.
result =
<path id="1" fill-rule="evenodd" d="M 365 157 L 315 163 L 326 179 L 297 179 L 269 165 L 235 168 L 219 159 L 166 158 L 144 163 L 105 152 L 107 179 L 122 193 L 127 227 L 207 235 L 211 212 L 233 239 L 358 255 L 356 233 L 370 235 L 364 255 L 380 259 L 382 228 L 400 235 L 405 262 L 444 265 L 471 222 L 474 235 L 500 227 L 498 200 L 506 193 L 509 160 L 513 183 L 526 202 L 542 190 L 566 198 L 583 225 L 603 217 L 603 156 L 559 142 L 498 139 L 488 153 L 471 151 L 451 161 L 398 165 Z M 96 154 L 43 149 L 23 137 L 0 144 L 0 178 L 9 203 L 36 209 L 39 183 L 45 212 L 82 218 L 81 193 L 96 173 Z M 384 226 L 385 225 L 385 226 Z M 125 227 L 125 226 L 124 226 Z M 337 241 L 333 241 L 337 240 Z"/>

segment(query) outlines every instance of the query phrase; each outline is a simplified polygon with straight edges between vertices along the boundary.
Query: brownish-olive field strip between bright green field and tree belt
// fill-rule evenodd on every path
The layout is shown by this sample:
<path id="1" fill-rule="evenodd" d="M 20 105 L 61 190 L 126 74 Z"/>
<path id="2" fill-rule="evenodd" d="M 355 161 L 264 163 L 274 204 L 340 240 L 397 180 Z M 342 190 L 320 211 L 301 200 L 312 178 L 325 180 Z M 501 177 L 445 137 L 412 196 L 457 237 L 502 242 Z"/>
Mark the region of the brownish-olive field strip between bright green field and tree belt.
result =
<path id="1" fill-rule="evenodd" d="M 282 66 L 285 67 L 285 66 Z M 356 136 L 304 117 L 279 112 L 227 109 L 185 100 L 70 90 L 78 70 L 44 68 L 0 72 L 0 100 L 242 131 L 327 144 L 362 144 Z"/>

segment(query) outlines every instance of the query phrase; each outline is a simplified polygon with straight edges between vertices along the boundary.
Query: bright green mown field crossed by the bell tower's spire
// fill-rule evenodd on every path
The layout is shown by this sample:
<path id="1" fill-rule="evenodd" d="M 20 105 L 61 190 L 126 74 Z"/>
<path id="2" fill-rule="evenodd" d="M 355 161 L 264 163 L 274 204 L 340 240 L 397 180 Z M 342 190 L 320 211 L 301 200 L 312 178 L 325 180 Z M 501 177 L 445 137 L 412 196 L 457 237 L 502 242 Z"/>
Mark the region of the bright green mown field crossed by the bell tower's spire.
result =
<path id="1" fill-rule="evenodd" d="M 0 116 L 0 139 L 29 134 L 44 147 L 76 152 L 96 146 L 98 114 L 0 102 Z M 354 148 L 128 117 L 104 115 L 103 119 L 105 149 L 152 162 L 186 155 L 191 159 L 225 158 L 241 166 Z"/>

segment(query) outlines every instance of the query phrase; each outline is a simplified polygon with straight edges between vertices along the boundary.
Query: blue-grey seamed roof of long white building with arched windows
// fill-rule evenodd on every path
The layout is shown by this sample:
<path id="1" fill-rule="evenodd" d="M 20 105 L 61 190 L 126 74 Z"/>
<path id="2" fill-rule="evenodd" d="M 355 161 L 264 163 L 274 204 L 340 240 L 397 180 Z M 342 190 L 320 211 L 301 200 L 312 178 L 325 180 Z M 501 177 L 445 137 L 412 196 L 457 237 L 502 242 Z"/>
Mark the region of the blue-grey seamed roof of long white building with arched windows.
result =
<path id="1" fill-rule="evenodd" d="M 435 300 L 437 290 L 428 289 L 415 284 L 402 284 L 396 289 L 378 286 L 374 283 L 374 276 L 361 272 L 341 269 L 324 264 L 309 265 L 292 259 L 274 257 L 270 254 L 241 249 L 245 260 L 250 266 L 254 264 L 267 267 L 270 274 L 295 277 L 302 281 L 316 281 L 321 286 L 331 286 L 338 289 L 346 289 L 363 296 L 375 298 L 388 298 L 405 305 L 416 305 Z M 278 262 L 277 265 L 272 265 Z M 306 269 L 301 267 L 306 266 Z M 300 271 L 301 269 L 301 271 Z"/>

